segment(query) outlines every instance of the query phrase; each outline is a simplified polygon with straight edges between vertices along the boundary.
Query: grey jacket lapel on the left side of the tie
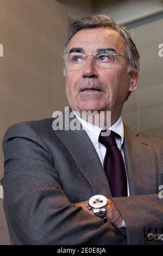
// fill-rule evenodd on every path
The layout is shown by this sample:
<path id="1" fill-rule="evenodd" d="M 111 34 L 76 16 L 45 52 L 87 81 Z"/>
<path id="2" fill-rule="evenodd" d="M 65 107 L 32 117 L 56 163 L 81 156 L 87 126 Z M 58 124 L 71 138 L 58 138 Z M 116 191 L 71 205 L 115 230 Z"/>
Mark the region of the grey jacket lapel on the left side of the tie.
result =
<path id="1" fill-rule="evenodd" d="M 67 127 L 67 124 L 65 126 L 65 114 L 66 112 L 63 114 L 63 130 L 54 131 L 55 135 L 65 145 L 80 172 L 82 172 L 85 179 L 89 182 L 93 194 L 104 194 L 104 196 L 110 197 L 111 192 L 108 179 L 89 136 L 85 130 L 65 130 L 65 127 Z M 74 117 L 70 117 L 69 127 L 71 121 L 74 121 Z M 76 126 L 81 128 L 77 118 L 75 118 L 75 121 Z"/>

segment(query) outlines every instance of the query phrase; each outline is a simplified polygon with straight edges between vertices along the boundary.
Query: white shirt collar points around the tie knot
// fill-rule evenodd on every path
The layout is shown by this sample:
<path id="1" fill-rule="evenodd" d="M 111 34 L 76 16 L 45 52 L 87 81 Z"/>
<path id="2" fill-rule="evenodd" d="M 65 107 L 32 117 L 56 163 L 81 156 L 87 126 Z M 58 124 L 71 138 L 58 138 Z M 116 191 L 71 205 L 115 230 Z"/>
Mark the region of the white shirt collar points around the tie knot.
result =
<path id="1" fill-rule="evenodd" d="M 90 137 L 93 145 L 96 148 L 99 143 L 98 138 L 102 131 L 102 128 L 88 123 L 86 120 L 80 118 L 79 115 L 77 113 L 75 113 L 74 111 L 73 111 L 73 113 L 74 113 L 74 115 L 76 115 L 80 124 L 82 124 L 84 130 L 86 131 L 87 135 Z M 109 130 L 114 131 L 115 133 L 117 133 L 120 136 L 120 137 L 116 138 L 116 143 L 117 143 L 118 147 L 122 147 L 123 140 L 124 140 L 124 126 L 123 126 L 123 121 L 122 121 L 121 116 L 118 118 L 116 123 L 109 128 Z"/>

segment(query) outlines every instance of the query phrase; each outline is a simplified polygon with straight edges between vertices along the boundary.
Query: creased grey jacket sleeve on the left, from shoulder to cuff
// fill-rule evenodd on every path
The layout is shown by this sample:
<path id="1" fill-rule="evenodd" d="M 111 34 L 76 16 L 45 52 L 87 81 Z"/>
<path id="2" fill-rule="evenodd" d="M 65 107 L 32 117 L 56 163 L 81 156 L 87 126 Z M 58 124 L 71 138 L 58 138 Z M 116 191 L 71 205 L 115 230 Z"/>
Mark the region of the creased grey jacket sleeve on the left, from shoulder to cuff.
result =
<path id="1" fill-rule="evenodd" d="M 4 211 L 15 244 L 127 244 L 118 228 L 70 202 L 51 152 L 29 123 L 8 129 L 3 151 Z"/>

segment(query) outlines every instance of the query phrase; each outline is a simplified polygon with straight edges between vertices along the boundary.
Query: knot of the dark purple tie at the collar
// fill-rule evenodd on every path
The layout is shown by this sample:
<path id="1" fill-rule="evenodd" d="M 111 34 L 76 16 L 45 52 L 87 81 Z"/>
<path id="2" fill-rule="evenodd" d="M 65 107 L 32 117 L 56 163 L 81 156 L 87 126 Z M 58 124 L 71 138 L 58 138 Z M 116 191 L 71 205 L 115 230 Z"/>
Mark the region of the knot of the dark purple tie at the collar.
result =
<path id="1" fill-rule="evenodd" d="M 115 132 L 102 130 L 99 135 L 99 142 L 101 142 L 106 148 L 109 148 L 112 145 L 116 145 Z"/>

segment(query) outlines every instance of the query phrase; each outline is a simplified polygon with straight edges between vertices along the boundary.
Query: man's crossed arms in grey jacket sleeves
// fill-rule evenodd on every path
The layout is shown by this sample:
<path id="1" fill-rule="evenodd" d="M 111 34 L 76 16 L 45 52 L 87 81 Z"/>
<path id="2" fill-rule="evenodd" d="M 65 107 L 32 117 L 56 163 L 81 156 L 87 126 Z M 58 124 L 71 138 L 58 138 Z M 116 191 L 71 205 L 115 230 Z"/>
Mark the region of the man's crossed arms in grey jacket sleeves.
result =
<path id="1" fill-rule="evenodd" d="M 162 243 L 147 240 L 149 231 L 161 233 L 163 229 L 163 199 L 158 194 L 109 199 L 104 223 L 86 209 L 86 202 L 70 202 L 52 156 L 29 125 L 12 126 L 4 137 L 3 150 L 4 210 L 16 244 Z M 117 228 L 123 219 L 127 235 Z"/>

